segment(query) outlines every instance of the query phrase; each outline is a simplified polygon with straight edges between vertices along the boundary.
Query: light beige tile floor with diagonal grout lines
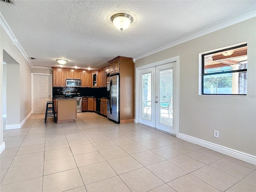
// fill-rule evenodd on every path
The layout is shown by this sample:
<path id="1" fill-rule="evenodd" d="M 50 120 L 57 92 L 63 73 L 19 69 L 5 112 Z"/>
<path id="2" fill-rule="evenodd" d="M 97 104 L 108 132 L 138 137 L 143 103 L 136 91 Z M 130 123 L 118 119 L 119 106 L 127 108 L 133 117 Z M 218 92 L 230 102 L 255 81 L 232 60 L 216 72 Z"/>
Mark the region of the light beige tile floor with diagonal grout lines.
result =
<path id="1" fill-rule="evenodd" d="M 255 192 L 256 166 L 95 113 L 4 130 L 1 192 Z"/>

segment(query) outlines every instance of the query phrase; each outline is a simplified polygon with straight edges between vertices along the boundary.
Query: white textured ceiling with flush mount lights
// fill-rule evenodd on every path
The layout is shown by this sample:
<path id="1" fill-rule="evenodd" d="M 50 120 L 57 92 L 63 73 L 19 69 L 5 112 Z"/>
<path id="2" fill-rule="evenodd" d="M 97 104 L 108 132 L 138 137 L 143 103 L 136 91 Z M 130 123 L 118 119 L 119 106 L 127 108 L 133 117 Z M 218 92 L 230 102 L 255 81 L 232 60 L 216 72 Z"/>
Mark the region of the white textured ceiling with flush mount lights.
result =
<path id="1" fill-rule="evenodd" d="M 116 56 L 136 58 L 256 9 L 241 0 L 14 0 L 0 12 L 34 66 L 99 69 Z M 110 17 L 125 12 L 134 21 L 123 32 Z"/>

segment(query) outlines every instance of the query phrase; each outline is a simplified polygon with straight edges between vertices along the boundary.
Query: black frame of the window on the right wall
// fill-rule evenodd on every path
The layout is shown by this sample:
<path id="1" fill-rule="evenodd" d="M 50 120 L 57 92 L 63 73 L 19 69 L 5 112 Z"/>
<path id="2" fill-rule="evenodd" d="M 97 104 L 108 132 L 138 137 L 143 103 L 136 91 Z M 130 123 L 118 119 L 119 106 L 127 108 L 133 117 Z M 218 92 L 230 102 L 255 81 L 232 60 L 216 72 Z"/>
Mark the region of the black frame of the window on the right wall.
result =
<path id="1" fill-rule="evenodd" d="M 204 54 L 201 54 L 201 62 L 202 62 L 202 71 L 201 71 L 201 95 L 229 95 L 229 96 L 246 96 L 246 94 L 209 94 L 209 93 L 204 93 L 204 76 L 208 76 L 208 75 L 216 75 L 216 74 L 228 74 L 228 73 L 236 73 L 236 72 L 247 72 L 247 68 L 246 69 L 238 69 L 238 70 L 230 70 L 230 71 L 222 71 L 222 72 L 211 72 L 209 73 L 205 73 L 204 72 L 204 56 L 206 55 L 210 55 L 210 54 L 214 54 L 214 53 L 219 53 L 219 52 L 224 52 L 227 50 L 232 50 L 232 49 L 236 49 L 236 48 L 241 48 L 241 47 L 245 47 L 247 46 L 247 43 L 245 44 L 241 44 L 238 46 L 232 46 L 230 48 L 226 48 L 226 49 L 222 49 L 222 50 L 217 50 L 217 51 L 212 51 L 212 52 L 207 52 Z M 248 50 L 248 47 L 247 47 Z"/>

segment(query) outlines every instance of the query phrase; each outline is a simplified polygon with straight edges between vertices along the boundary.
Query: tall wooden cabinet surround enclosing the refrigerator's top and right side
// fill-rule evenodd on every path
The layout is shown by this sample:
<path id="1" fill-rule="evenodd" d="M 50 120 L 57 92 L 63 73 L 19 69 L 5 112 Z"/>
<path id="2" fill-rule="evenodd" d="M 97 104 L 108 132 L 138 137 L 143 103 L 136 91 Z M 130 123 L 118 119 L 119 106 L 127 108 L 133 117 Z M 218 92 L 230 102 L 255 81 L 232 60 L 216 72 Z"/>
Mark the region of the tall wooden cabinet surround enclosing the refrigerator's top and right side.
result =
<path id="1" fill-rule="evenodd" d="M 119 72 L 120 123 L 134 122 L 134 62 L 132 58 L 118 56 L 109 63 L 110 76 Z"/>

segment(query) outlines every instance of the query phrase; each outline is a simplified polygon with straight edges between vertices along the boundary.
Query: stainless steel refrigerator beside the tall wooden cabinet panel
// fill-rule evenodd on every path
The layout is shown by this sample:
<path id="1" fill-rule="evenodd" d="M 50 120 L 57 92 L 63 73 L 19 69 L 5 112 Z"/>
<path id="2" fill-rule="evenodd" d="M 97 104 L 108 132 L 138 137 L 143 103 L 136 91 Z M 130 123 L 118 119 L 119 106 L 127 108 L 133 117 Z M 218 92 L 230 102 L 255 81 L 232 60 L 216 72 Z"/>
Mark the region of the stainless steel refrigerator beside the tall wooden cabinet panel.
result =
<path id="1" fill-rule="evenodd" d="M 108 92 L 108 104 L 107 104 L 107 116 L 119 123 L 119 76 L 112 76 L 107 78 L 107 92 Z"/>

